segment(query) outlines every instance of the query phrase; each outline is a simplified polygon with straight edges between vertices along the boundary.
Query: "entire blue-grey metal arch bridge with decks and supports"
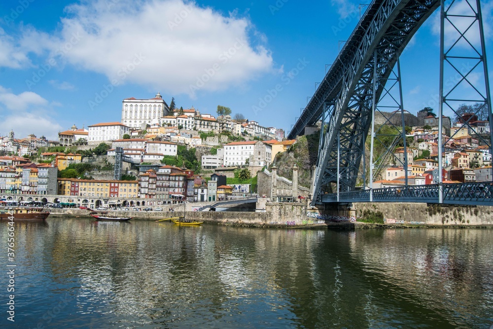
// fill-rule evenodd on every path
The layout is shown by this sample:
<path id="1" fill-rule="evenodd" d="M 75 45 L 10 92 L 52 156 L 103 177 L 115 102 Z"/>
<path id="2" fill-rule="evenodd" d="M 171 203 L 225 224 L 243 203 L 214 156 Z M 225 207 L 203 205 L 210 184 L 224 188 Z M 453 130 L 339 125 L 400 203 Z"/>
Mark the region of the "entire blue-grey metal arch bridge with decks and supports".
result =
<path id="1" fill-rule="evenodd" d="M 469 0 L 466 1 L 471 5 Z M 482 47 L 482 52 L 478 53 L 478 56 L 479 61 L 484 66 L 486 84 L 485 96 L 482 101 L 489 109 L 490 141 L 492 141 L 492 108 L 480 0 L 472 1 L 477 4 L 476 20 L 479 21 Z M 355 191 L 361 160 L 364 161 L 364 144 L 372 125 L 374 111 L 382 95 L 387 93 L 385 83 L 393 73 L 396 63 L 398 64 L 399 56 L 406 45 L 426 19 L 440 6 L 442 7 L 442 31 L 439 131 L 442 131 L 443 106 L 446 96 L 448 96 L 448 94 L 444 95 L 443 92 L 443 63 L 444 60 L 447 61 L 443 48 L 443 21 L 444 16 L 447 15 L 444 10 L 444 0 L 373 0 L 288 135 L 290 139 L 296 138 L 296 136 L 304 133 L 306 126 L 315 125 L 320 118 L 322 120 L 317 166 L 312 186 L 312 205 L 317 202 L 352 202 L 358 200 L 381 202 L 406 200 L 407 202 L 435 202 L 434 200 L 436 200 L 439 203 L 471 204 L 472 202 L 477 204 L 474 193 L 479 189 L 484 189 L 485 185 L 491 185 L 482 184 L 481 188 L 466 189 L 474 190 L 472 195 L 464 197 L 467 200 L 450 198 L 451 194 L 448 193 L 453 193 L 456 190 L 454 187 L 448 188 L 443 185 L 441 183 L 442 177 L 440 177 L 440 183 L 437 186 L 430 188 L 427 185 L 424 187 L 425 190 L 428 190 L 427 192 L 423 192 L 423 187 L 405 186 L 405 188 L 399 189 L 399 195 L 396 194 L 397 189 L 395 191 L 393 189 L 381 189 L 384 194 L 388 192 L 388 197 L 379 198 L 378 195 L 380 194 L 375 189 Z M 465 39 L 465 32 L 459 31 L 459 34 Z M 399 65 L 397 68 L 400 74 Z M 463 79 L 467 80 L 464 75 L 462 75 L 461 80 Z M 400 93 L 402 103 L 402 90 Z M 400 111 L 402 119 L 404 119 L 402 105 Z M 324 123 L 327 121 L 328 124 L 324 127 Z M 467 122 L 466 125 L 469 126 Z M 438 135 L 439 154 L 442 154 L 442 136 L 441 134 Z M 404 129 L 402 129 L 402 137 L 405 141 Z M 404 150 L 405 147 L 404 142 Z M 490 153 L 493 153 L 491 142 Z M 407 159 L 405 161 L 407 167 Z M 441 172 L 442 163 L 439 162 L 439 172 Z M 329 183 L 337 183 L 337 193 L 322 194 L 322 186 Z M 488 192 L 492 190 L 490 187 L 487 187 Z M 411 192 L 413 190 L 415 192 Z M 461 191 L 460 193 L 462 195 L 464 192 Z M 376 199 L 374 199 L 374 195 Z M 408 197 L 404 198 L 404 195 Z M 427 197 L 429 201 L 424 201 L 424 197 Z M 489 195 L 488 199 L 482 199 L 480 202 L 491 204 L 491 201 L 493 199 Z"/>

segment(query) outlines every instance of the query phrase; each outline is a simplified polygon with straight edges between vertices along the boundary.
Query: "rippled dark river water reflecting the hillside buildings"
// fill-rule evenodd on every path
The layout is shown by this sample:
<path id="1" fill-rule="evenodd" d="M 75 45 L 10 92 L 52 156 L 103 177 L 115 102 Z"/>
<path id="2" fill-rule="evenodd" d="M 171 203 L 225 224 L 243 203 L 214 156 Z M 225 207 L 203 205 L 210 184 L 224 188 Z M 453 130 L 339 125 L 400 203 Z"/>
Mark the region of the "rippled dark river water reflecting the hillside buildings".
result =
<path id="1" fill-rule="evenodd" d="M 493 229 L 0 222 L 0 328 L 490 328 Z M 15 322 L 7 270 L 15 266 Z"/>

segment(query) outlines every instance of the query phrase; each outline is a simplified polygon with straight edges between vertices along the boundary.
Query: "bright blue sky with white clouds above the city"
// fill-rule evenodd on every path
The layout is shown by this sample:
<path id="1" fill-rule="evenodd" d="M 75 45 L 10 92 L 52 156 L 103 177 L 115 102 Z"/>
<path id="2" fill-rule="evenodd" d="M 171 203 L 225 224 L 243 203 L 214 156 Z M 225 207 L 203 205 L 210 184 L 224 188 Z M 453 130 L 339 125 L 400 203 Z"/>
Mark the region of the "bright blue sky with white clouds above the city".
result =
<path id="1" fill-rule="evenodd" d="M 359 2 L 1 1 L 0 136 L 57 140 L 73 124 L 120 121 L 123 99 L 157 92 L 287 132 L 364 13 Z M 493 0 L 482 9 L 490 59 Z M 435 12 L 400 57 L 404 109 L 438 112 L 439 56 Z"/>

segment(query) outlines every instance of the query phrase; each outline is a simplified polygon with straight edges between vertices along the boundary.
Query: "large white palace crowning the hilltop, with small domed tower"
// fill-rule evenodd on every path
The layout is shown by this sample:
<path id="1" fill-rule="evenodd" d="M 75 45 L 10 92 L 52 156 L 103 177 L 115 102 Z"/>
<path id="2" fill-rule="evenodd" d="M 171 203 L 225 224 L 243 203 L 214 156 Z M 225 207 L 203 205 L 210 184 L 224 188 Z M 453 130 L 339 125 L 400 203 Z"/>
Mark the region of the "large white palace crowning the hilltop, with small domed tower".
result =
<path id="1" fill-rule="evenodd" d="M 128 127 L 139 128 L 143 123 L 158 123 L 169 111 L 168 104 L 159 93 L 151 99 L 126 98 L 123 100 L 121 122 Z"/>

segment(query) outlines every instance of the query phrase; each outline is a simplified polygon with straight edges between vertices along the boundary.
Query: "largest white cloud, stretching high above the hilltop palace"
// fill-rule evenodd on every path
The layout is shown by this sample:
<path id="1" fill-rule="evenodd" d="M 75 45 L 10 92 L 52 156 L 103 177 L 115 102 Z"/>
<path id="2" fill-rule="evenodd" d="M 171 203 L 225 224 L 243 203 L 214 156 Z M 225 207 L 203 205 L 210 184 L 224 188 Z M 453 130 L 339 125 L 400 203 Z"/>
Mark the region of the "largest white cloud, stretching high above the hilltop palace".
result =
<path id="1" fill-rule="evenodd" d="M 235 12 L 225 17 L 183 0 L 83 1 L 66 12 L 56 36 L 29 29 L 20 44 L 110 82 L 170 94 L 223 90 L 274 71 L 266 37 Z"/>

